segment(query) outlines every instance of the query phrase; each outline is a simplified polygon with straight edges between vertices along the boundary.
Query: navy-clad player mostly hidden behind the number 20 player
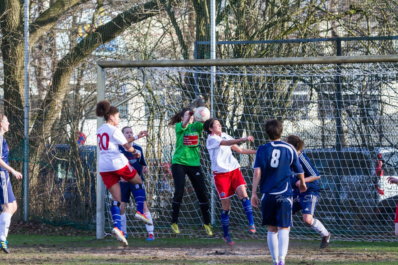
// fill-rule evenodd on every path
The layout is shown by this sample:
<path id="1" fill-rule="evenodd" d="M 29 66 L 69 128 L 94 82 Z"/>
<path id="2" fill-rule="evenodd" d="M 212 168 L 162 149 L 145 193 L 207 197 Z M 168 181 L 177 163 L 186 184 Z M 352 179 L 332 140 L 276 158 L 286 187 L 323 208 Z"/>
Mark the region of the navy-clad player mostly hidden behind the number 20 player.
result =
<path id="1" fill-rule="evenodd" d="M 134 138 L 135 140 L 142 138 L 144 136 L 148 136 L 148 133 L 146 131 L 140 132 L 138 135 L 135 135 L 133 137 L 133 130 L 129 126 L 125 126 L 122 129 L 123 135 L 128 138 Z M 141 156 L 139 158 L 135 157 L 132 153 L 126 151 L 123 146 L 119 146 L 119 151 L 125 155 L 125 157 L 129 160 L 129 163 L 135 170 L 137 170 L 137 174 L 142 179 L 142 183 L 144 184 L 144 177 L 143 174 L 148 172 L 148 165 L 146 164 L 145 158 L 144 158 L 144 152 L 142 151 L 142 147 L 138 145 L 137 143 L 132 142 L 131 146 L 134 147 L 134 149 L 139 150 L 141 153 Z M 121 217 L 121 230 L 123 231 L 123 234 L 125 235 L 125 238 L 127 238 L 127 219 L 126 219 L 126 214 L 125 214 L 125 204 L 130 201 L 130 194 L 134 195 L 134 190 L 135 186 L 133 184 L 130 184 L 129 182 L 125 182 L 123 179 L 120 181 L 120 190 L 121 190 L 121 203 L 120 203 L 120 217 Z M 146 205 L 146 195 L 144 198 L 144 215 L 146 218 L 148 218 L 152 224 L 152 215 L 150 214 L 150 211 L 148 209 L 148 206 Z M 146 231 L 148 231 L 148 238 L 146 238 L 146 241 L 153 241 L 155 240 L 155 236 L 153 233 L 153 225 L 148 225 L 145 224 L 146 226 Z"/>

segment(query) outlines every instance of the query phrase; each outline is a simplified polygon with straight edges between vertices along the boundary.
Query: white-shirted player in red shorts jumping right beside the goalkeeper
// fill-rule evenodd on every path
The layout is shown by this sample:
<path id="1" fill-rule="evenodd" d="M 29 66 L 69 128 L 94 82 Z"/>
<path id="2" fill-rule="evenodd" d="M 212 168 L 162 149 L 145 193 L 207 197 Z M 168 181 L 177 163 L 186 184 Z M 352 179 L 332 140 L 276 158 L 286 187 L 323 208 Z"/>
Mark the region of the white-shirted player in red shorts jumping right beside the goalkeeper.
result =
<path id="1" fill-rule="evenodd" d="M 246 212 L 249 222 L 249 232 L 256 232 L 256 227 L 253 222 L 252 205 L 246 193 L 246 182 L 240 172 L 240 165 L 231 151 L 232 149 L 241 154 L 255 154 L 255 150 L 249 150 L 236 145 L 243 141 L 252 142 L 253 136 L 234 139 L 230 135 L 222 132 L 220 122 L 215 118 L 207 120 L 205 124 L 203 124 L 203 130 L 209 135 L 207 137 L 206 147 L 210 155 L 214 184 L 222 205 L 221 224 L 224 232 L 224 241 L 229 246 L 233 246 L 235 243 L 229 235 L 228 228 L 229 211 L 231 209 L 230 197 L 235 193 L 238 195 Z"/>

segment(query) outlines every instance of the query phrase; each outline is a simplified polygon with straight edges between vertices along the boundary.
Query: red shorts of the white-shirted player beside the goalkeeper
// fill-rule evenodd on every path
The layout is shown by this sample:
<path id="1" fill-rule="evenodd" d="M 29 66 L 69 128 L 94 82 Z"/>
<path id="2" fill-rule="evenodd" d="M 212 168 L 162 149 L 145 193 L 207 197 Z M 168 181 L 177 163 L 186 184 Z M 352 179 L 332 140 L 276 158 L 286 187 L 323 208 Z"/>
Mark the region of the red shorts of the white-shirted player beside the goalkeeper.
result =
<path id="1" fill-rule="evenodd" d="M 220 199 L 233 196 L 236 189 L 242 185 L 244 185 L 246 189 L 246 182 L 243 179 L 240 168 L 224 173 L 213 172 L 213 180 Z"/>

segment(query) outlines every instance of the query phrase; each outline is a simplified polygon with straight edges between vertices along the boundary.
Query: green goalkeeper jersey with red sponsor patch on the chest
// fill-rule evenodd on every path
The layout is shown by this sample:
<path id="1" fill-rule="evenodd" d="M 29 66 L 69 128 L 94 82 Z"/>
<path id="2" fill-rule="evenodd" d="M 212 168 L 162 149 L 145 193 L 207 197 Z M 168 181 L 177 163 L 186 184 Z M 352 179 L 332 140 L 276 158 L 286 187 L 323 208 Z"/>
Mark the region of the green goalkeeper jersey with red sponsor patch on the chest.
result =
<path id="1" fill-rule="evenodd" d="M 176 151 L 172 164 L 199 166 L 199 133 L 203 130 L 201 122 L 188 124 L 182 128 L 182 122 L 176 124 Z"/>

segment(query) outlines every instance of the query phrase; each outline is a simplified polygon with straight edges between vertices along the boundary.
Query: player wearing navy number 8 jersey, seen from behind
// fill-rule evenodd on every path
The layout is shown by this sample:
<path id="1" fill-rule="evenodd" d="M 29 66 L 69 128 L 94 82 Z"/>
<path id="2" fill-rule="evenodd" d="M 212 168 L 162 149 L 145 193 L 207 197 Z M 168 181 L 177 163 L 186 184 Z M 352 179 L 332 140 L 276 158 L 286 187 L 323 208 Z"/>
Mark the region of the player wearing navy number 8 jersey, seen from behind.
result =
<path id="1" fill-rule="evenodd" d="M 260 145 L 253 168 L 252 206 L 257 208 L 257 186 L 260 184 L 262 225 L 267 225 L 267 243 L 274 265 L 285 265 L 289 246 L 289 227 L 292 224 L 292 170 L 300 179 L 300 192 L 306 191 L 304 171 L 296 149 L 281 141 L 283 125 L 278 120 L 267 120 L 265 132 L 269 143 Z M 279 263 L 278 263 L 279 255 Z"/>

